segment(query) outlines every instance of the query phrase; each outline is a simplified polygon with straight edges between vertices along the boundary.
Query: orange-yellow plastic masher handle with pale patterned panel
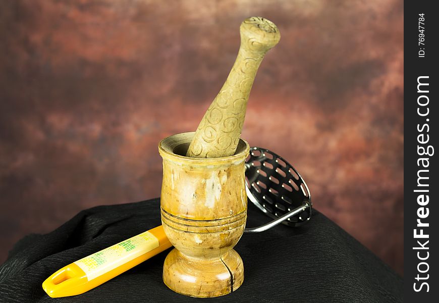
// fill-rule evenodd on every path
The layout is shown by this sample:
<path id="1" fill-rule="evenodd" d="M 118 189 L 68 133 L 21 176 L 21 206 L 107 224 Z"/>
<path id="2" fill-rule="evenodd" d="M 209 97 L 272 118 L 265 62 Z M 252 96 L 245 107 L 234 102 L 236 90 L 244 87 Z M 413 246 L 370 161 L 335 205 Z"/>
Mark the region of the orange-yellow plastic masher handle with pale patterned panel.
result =
<path id="1" fill-rule="evenodd" d="M 52 298 L 81 294 L 171 246 L 160 225 L 63 267 L 48 277 L 42 287 Z"/>

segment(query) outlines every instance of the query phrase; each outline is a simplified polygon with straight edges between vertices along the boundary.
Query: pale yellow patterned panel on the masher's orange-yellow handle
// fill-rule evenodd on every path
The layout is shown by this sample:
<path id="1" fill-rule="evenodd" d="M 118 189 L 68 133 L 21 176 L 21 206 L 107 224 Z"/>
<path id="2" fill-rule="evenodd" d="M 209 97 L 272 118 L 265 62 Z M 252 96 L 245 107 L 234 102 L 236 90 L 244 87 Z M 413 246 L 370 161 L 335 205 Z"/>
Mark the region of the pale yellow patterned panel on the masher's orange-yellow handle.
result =
<path id="1" fill-rule="evenodd" d="M 158 239 L 149 231 L 145 231 L 74 263 L 86 273 L 88 281 L 90 281 L 158 246 Z"/>

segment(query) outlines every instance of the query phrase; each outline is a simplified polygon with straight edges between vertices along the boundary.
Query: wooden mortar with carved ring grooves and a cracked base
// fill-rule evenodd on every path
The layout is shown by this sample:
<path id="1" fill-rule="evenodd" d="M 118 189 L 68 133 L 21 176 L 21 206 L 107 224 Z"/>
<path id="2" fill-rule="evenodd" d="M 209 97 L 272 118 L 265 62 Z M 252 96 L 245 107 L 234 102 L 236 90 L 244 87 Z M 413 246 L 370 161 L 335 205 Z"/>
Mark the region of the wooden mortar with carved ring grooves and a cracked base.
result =
<path id="1" fill-rule="evenodd" d="M 241 257 L 232 247 L 247 219 L 244 161 L 250 147 L 240 139 L 233 156 L 182 156 L 193 136 L 176 134 L 158 144 L 161 222 L 175 247 L 164 261 L 163 281 L 181 294 L 214 297 L 236 290 L 244 280 Z"/>

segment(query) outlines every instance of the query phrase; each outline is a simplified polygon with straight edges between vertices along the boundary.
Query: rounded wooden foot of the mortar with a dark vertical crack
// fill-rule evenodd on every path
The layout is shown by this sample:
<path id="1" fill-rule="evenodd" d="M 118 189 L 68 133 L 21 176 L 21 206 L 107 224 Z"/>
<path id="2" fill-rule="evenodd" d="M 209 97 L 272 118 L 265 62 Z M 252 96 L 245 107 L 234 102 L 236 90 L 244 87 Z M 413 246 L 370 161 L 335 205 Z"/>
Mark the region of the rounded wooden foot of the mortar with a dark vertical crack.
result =
<path id="1" fill-rule="evenodd" d="M 163 264 L 163 282 L 175 292 L 192 297 L 216 297 L 238 289 L 244 266 L 238 252 L 229 250 L 221 259 L 188 258 L 174 248 Z"/>

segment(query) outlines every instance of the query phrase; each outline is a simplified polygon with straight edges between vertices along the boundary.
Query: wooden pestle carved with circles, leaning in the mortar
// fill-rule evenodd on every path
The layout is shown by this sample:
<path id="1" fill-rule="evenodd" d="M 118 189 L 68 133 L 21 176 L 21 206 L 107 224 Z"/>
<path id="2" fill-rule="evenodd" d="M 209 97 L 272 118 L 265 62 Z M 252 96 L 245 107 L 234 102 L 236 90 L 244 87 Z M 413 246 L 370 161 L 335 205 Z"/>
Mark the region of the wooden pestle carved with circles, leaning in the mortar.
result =
<path id="1" fill-rule="evenodd" d="M 277 26 L 261 17 L 244 20 L 240 34 L 235 64 L 195 131 L 187 157 L 219 158 L 236 152 L 256 72 L 265 53 L 281 38 Z"/>

